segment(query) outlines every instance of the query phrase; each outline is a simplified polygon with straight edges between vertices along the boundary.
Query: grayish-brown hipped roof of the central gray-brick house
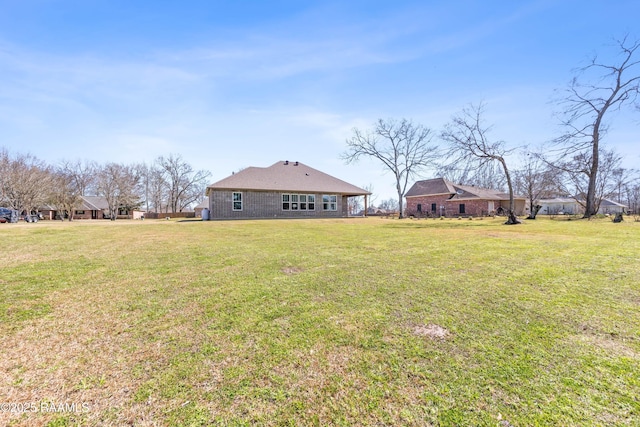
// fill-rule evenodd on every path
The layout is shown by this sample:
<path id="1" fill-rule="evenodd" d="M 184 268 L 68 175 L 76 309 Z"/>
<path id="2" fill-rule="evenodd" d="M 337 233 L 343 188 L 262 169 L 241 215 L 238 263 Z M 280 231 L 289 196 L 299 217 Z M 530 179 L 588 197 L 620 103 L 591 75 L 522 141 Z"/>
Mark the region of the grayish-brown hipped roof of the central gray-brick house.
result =
<path id="1" fill-rule="evenodd" d="M 249 167 L 207 187 L 213 190 L 255 190 L 370 195 L 362 188 L 300 162 L 280 161 L 266 168 Z"/>

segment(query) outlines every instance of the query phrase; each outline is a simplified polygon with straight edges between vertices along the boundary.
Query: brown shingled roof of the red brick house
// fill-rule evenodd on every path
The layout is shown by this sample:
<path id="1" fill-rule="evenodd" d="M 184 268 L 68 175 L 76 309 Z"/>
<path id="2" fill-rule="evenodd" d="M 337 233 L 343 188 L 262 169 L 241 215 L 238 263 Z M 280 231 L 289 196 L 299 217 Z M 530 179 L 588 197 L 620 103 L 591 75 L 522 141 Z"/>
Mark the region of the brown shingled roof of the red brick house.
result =
<path id="1" fill-rule="evenodd" d="M 407 191 L 405 197 L 434 196 L 449 194 L 455 200 L 509 200 L 509 194 L 491 190 L 488 188 L 474 187 L 471 185 L 454 184 L 444 178 L 426 179 L 417 181 Z M 524 197 L 515 197 L 524 199 Z"/>

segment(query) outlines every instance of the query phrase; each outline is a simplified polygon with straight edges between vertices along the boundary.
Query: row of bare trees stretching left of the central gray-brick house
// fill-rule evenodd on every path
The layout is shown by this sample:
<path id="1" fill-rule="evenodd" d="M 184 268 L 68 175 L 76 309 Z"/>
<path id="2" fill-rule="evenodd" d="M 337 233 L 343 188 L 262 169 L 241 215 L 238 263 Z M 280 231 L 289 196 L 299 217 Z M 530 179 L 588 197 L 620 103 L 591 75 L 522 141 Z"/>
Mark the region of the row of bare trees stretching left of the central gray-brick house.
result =
<path id="1" fill-rule="evenodd" d="M 111 219 L 120 208 L 182 212 L 204 198 L 211 173 L 194 170 L 180 155 L 151 164 L 99 164 L 63 160 L 52 165 L 30 154 L 0 148 L 0 205 L 20 212 L 54 206 L 69 220 L 81 196 L 104 197 Z"/>

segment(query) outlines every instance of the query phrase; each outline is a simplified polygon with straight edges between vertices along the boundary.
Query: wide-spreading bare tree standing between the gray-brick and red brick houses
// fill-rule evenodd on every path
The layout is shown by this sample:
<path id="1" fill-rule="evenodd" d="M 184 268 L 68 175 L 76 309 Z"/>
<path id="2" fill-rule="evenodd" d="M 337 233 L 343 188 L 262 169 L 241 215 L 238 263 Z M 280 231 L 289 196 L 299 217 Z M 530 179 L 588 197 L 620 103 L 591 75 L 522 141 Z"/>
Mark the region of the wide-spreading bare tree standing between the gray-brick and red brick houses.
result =
<path id="1" fill-rule="evenodd" d="M 373 130 L 353 129 L 353 136 L 347 140 L 347 151 L 342 159 L 353 163 L 362 156 L 372 157 L 382 162 L 396 181 L 400 218 L 403 217 L 402 199 L 407 191 L 409 179 L 433 164 L 435 147 L 431 145 L 433 132 L 422 125 L 414 125 L 407 119 L 379 119 Z"/>

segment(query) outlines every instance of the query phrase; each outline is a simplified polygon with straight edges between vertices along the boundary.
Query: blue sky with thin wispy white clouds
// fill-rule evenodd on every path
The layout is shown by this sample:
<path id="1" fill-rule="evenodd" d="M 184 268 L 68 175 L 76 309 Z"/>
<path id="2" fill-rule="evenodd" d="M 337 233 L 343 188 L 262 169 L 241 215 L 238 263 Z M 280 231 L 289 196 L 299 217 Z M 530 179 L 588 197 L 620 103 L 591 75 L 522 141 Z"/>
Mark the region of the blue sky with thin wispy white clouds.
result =
<path id="1" fill-rule="evenodd" d="M 50 163 L 179 153 L 212 182 L 298 160 L 387 199 L 378 163 L 340 160 L 354 127 L 439 131 L 482 101 L 493 138 L 548 141 L 554 91 L 639 38 L 639 16 L 637 0 L 0 0 L 0 146 Z M 607 136 L 628 167 L 638 116 Z"/>

